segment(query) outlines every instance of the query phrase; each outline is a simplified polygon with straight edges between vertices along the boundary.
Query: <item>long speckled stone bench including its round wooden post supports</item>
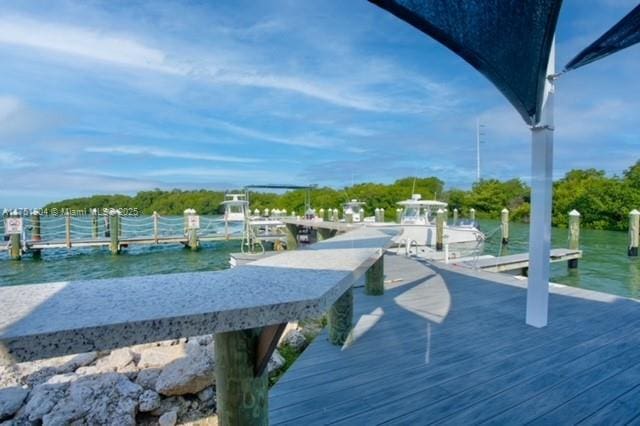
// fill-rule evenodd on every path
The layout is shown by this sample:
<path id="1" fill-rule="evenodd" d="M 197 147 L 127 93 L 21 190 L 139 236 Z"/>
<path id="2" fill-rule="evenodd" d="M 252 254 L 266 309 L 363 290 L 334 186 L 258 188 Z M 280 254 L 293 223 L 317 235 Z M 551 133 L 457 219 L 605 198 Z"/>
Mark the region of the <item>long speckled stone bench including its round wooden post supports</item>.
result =
<path id="1" fill-rule="evenodd" d="M 0 288 L 0 364 L 216 334 L 222 424 L 268 419 L 265 366 L 287 322 L 329 313 L 330 336 L 351 328 L 355 280 L 382 285 L 396 231 L 357 229 L 219 272 Z"/>

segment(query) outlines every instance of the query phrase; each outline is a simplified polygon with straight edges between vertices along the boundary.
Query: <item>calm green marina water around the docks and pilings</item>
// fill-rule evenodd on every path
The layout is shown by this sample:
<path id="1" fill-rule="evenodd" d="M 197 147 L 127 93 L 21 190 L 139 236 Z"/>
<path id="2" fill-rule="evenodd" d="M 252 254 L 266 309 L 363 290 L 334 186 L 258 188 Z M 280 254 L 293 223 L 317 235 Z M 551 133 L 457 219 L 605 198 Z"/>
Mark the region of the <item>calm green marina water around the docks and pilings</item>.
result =
<path id="1" fill-rule="evenodd" d="M 490 234 L 497 221 L 481 221 L 481 229 Z M 528 225 L 512 223 L 510 244 L 502 254 L 527 251 Z M 551 280 L 558 283 L 640 297 L 640 259 L 627 257 L 625 232 L 583 229 L 581 247 L 584 257 L 577 271 L 569 272 L 565 262 L 553 264 Z M 554 229 L 553 247 L 567 247 L 567 230 Z M 16 285 L 76 279 L 110 278 L 189 271 L 212 271 L 229 267 L 229 253 L 239 251 L 239 241 L 205 243 L 198 252 L 178 245 L 134 246 L 120 256 L 106 248 L 44 250 L 42 259 L 26 255 L 20 262 L 0 253 L 0 285 Z M 485 244 L 485 254 L 500 253 L 500 233 Z"/>

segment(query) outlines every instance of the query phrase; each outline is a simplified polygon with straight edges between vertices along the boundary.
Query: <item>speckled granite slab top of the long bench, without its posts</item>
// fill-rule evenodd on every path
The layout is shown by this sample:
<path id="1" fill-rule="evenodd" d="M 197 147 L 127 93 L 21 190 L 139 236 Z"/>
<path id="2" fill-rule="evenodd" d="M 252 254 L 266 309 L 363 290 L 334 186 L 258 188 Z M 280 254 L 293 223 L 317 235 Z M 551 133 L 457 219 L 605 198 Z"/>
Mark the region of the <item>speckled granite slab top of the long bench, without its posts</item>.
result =
<path id="1" fill-rule="evenodd" d="M 225 271 L 0 287 L 0 364 L 318 315 L 396 232 L 356 229 Z"/>

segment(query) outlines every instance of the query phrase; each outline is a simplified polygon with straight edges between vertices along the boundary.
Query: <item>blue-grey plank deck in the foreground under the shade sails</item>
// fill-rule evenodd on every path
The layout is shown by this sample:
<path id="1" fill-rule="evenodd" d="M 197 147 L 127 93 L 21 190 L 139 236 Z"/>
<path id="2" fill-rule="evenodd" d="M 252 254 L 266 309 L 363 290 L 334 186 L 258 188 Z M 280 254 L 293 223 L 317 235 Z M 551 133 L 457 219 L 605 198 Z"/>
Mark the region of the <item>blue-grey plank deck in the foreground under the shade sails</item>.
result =
<path id="1" fill-rule="evenodd" d="M 640 424 L 640 305 L 552 285 L 525 325 L 525 281 L 385 257 L 355 291 L 355 341 L 320 335 L 270 392 L 271 424 Z M 402 279 L 402 281 L 396 281 Z"/>

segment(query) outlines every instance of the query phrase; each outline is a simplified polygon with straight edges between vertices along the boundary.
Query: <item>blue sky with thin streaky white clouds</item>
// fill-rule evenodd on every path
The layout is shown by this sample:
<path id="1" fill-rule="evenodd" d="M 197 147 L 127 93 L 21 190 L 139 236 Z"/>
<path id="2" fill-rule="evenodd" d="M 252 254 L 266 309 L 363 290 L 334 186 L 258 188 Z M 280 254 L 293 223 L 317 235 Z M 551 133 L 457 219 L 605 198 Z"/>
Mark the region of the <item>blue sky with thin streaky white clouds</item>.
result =
<path id="1" fill-rule="evenodd" d="M 636 4 L 565 1 L 566 63 Z M 480 74 L 366 1 L 0 1 L 0 204 L 251 183 L 527 179 Z M 555 170 L 640 159 L 640 47 L 557 84 Z"/>

